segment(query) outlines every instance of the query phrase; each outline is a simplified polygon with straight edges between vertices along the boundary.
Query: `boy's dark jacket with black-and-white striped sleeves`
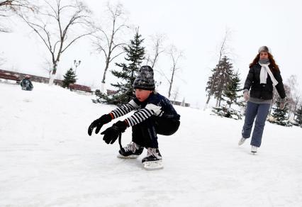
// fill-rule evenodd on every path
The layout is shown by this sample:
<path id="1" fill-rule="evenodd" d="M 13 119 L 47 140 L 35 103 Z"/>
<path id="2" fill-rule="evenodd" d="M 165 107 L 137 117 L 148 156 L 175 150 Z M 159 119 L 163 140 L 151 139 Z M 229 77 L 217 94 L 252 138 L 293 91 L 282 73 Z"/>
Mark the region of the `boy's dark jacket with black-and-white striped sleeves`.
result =
<path id="1" fill-rule="evenodd" d="M 123 106 L 114 109 L 111 113 L 114 118 L 118 118 L 135 109 L 138 111 L 136 111 L 133 116 L 126 118 L 129 126 L 141 123 L 151 116 L 161 116 L 163 118 L 171 118 L 174 120 L 179 120 L 180 118 L 171 102 L 166 97 L 158 93 L 150 94 L 150 96 L 143 102 L 134 98 L 128 104 L 124 104 Z"/>

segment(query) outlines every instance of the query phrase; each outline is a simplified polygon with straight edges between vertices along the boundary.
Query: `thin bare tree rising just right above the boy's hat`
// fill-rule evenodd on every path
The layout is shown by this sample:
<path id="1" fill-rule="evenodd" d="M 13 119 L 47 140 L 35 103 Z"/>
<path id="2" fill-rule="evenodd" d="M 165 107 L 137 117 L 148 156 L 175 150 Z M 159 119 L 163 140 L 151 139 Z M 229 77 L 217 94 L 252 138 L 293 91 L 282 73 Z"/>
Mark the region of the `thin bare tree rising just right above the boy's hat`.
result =
<path id="1" fill-rule="evenodd" d="M 165 39 L 166 39 L 165 35 L 162 34 L 151 36 L 152 54 L 147 56 L 147 65 L 150 62 L 152 68 L 155 67 L 155 64 L 159 59 L 160 54 L 165 51 L 165 48 L 163 46 Z"/>

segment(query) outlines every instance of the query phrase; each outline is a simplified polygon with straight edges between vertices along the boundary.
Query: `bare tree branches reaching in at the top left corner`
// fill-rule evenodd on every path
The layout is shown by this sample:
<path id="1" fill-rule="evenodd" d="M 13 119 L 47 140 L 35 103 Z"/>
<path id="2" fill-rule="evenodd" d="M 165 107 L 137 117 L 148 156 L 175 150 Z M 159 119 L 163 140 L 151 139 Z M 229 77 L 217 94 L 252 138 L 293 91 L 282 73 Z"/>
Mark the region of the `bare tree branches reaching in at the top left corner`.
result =
<path id="1" fill-rule="evenodd" d="M 0 18 L 12 16 L 20 13 L 22 9 L 35 10 L 35 6 L 28 0 L 0 0 Z M 7 26 L 0 25 L 0 32 L 8 33 L 10 30 Z"/>

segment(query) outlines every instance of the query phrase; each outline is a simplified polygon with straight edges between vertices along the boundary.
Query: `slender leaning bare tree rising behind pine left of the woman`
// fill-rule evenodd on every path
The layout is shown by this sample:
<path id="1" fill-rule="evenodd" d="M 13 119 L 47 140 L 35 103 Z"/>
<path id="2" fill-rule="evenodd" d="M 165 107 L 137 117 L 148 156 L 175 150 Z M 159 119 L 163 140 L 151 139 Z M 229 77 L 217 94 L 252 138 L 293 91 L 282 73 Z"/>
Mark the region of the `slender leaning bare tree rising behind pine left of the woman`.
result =
<path id="1" fill-rule="evenodd" d="M 216 66 L 217 68 L 220 67 L 220 62 L 221 62 L 221 59 L 223 58 L 223 56 L 227 55 L 228 54 L 228 41 L 230 40 L 230 30 L 225 30 L 225 35 L 223 36 L 223 40 L 220 44 L 220 47 L 219 47 L 219 52 L 218 52 L 218 65 Z M 208 99 L 206 100 L 206 105 L 204 106 L 203 110 L 206 110 L 206 108 L 208 108 L 208 102 L 210 101 L 211 99 L 211 96 L 213 95 L 213 86 L 216 82 L 216 76 L 213 77 L 213 82 L 212 82 L 212 85 L 211 85 L 211 88 L 208 92 Z"/>

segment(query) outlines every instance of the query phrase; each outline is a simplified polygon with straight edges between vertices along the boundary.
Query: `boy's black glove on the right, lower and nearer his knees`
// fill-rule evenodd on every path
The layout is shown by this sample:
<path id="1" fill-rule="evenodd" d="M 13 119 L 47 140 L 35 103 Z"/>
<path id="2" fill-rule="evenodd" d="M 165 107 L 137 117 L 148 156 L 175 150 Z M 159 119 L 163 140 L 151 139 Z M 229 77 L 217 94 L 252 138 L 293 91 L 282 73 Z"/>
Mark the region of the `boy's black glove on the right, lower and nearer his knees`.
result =
<path id="1" fill-rule="evenodd" d="M 117 123 L 114 123 L 111 127 L 104 130 L 101 135 L 104 135 L 103 140 L 107 144 L 110 143 L 112 145 L 118 138 L 118 135 L 123 133 L 126 128 L 127 124 L 125 123 L 125 121 L 118 121 Z"/>

